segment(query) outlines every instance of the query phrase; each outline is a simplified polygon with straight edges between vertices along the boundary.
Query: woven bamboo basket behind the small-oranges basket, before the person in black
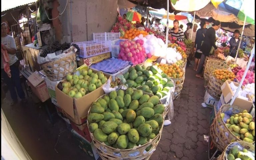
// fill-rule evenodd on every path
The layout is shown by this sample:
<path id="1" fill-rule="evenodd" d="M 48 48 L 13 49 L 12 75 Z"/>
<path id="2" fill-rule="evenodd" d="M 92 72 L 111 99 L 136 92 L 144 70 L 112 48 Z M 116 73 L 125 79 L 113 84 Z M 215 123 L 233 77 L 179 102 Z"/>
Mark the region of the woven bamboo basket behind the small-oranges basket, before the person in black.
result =
<path id="1" fill-rule="evenodd" d="M 223 61 L 215 60 L 215 59 L 209 59 L 205 62 L 204 67 L 204 79 L 206 80 L 206 84 L 209 81 L 210 74 L 215 69 L 228 69 L 229 66 L 226 63 L 223 63 Z"/>

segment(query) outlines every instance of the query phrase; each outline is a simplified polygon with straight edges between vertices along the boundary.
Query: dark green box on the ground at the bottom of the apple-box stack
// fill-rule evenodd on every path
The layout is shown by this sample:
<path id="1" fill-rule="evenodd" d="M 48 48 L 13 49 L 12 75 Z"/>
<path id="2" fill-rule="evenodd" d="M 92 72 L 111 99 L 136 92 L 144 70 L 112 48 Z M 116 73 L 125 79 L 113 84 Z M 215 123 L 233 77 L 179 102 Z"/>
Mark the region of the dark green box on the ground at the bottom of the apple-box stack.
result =
<path id="1" fill-rule="evenodd" d="M 81 135 L 79 135 L 73 129 L 71 130 L 71 133 L 73 135 L 73 138 L 75 139 L 75 142 L 79 146 L 79 148 L 81 148 L 87 155 L 90 155 L 95 160 L 97 160 L 100 157 L 93 142 L 88 142 L 86 139 L 84 139 Z"/>

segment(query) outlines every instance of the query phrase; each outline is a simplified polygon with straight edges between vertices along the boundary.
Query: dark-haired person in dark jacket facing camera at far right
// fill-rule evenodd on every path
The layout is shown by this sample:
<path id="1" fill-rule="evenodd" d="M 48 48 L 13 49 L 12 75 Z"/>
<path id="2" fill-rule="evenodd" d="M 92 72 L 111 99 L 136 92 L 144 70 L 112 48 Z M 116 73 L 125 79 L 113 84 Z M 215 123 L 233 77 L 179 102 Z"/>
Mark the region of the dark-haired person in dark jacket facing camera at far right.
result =
<path id="1" fill-rule="evenodd" d="M 236 29 L 234 31 L 234 35 L 233 37 L 230 39 L 229 41 L 229 53 L 230 53 L 230 56 L 235 58 L 236 57 L 236 52 L 237 52 L 237 49 L 238 49 L 238 44 L 239 44 L 239 35 L 240 35 L 240 32 L 238 29 Z M 240 45 L 240 48 L 242 49 L 243 48 L 243 45 L 241 44 Z"/>

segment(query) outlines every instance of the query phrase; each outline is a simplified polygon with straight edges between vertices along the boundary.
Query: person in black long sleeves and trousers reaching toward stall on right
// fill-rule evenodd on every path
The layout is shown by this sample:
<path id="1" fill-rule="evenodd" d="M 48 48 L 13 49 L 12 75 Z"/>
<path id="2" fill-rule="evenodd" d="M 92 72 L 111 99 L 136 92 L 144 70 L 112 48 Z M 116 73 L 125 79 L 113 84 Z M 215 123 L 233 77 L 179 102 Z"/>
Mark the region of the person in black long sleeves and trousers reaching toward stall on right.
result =
<path id="1" fill-rule="evenodd" d="M 216 35 L 215 35 L 215 31 L 218 30 L 220 28 L 220 21 L 214 21 L 212 27 L 210 27 L 209 29 L 207 29 L 205 38 L 204 38 L 204 42 L 201 46 L 201 51 L 202 51 L 202 55 L 200 58 L 200 62 L 197 68 L 197 74 L 196 77 L 200 78 L 200 79 L 204 79 L 201 75 L 202 73 L 202 69 L 203 69 L 203 65 L 204 65 L 204 61 L 206 56 L 209 56 L 211 48 L 214 47 L 215 49 L 217 49 L 217 51 L 221 51 L 218 49 L 218 47 L 215 45 L 215 41 L 216 41 Z"/>

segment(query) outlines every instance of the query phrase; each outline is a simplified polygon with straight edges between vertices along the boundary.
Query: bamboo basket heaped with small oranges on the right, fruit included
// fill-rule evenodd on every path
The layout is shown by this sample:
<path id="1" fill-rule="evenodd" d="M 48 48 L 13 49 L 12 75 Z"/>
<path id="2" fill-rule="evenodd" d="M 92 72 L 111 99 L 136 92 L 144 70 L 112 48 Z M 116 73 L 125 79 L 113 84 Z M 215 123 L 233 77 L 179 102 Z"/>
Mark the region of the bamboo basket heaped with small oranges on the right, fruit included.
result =
<path id="1" fill-rule="evenodd" d="M 219 99 L 222 93 L 221 86 L 226 80 L 233 81 L 235 74 L 226 69 L 216 69 L 212 71 L 208 85 L 206 87 L 208 93 L 215 99 Z"/>

